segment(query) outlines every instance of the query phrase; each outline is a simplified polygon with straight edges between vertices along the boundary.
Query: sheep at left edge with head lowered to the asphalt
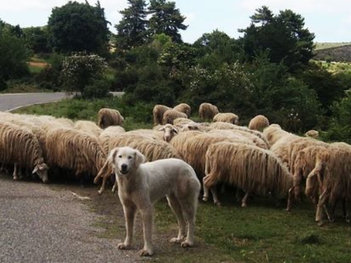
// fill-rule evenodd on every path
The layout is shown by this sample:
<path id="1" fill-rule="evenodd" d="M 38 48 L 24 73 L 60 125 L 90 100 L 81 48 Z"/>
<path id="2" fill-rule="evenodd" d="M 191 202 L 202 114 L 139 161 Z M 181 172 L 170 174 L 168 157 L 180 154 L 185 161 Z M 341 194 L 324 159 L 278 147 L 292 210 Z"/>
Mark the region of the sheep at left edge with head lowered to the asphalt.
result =
<path id="1" fill-rule="evenodd" d="M 47 183 L 48 166 L 35 135 L 8 122 L 0 122 L 0 135 L 0 162 L 15 164 L 13 179 L 18 179 L 17 167 L 25 166 L 33 169 L 32 173 L 37 173 L 42 182 Z"/>

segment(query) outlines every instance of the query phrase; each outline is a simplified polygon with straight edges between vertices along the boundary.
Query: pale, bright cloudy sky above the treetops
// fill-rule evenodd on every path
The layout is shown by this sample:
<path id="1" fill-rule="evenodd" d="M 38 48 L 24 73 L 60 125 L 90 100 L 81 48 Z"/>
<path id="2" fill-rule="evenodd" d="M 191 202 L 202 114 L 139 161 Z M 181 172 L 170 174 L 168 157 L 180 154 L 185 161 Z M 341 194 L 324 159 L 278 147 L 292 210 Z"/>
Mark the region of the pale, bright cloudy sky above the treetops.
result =
<path id="1" fill-rule="evenodd" d="M 77 0 L 85 2 L 85 0 Z M 204 33 L 225 32 L 232 38 L 241 36 L 239 28 L 250 25 L 255 9 L 266 5 L 274 14 L 291 9 L 305 18 L 305 27 L 316 35 L 315 42 L 351 42 L 351 1 L 349 0 L 174 0 L 180 13 L 186 16 L 188 28 L 181 31 L 183 41 L 193 43 Z M 91 5 L 95 0 L 88 0 Z M 148 2 L 148 1 L 147 1 Z M 0 0 L 0 19 L 21 27 L 44 26 L 51 10 L 67 0 Z M 100 0 L 105 16 L 115 24 L 121 19 L 119 11 L 127 0 Z"/>

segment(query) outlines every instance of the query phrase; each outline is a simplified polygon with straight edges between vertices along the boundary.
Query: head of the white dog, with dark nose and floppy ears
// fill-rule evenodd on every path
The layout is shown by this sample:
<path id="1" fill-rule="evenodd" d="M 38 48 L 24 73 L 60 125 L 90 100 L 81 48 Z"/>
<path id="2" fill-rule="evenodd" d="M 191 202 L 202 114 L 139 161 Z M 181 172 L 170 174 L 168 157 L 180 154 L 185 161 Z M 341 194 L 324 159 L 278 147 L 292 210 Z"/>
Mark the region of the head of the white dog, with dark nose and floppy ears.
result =
<path id="1" fill-rule="evenodd" d="M 131 147 L 114 148 L 110 151 L 108 161 L 118 174 L 128 174 L 133 169 L 138 169 L 145 162 L 145 156 L 140 151 Z"/>

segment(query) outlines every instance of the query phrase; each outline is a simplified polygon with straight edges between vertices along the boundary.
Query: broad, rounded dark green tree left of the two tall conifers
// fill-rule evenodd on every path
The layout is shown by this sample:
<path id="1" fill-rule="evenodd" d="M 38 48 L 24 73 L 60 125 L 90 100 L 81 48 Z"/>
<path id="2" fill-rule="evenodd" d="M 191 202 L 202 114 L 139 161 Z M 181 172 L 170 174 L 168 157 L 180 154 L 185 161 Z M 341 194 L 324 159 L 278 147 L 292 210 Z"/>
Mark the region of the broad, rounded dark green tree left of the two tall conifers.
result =
<path id="1" fill-rule="evenodd" d="M 108 23 L 99 1 L 95 7 L 87 1 L 84 4 L 69 1 L 52 9 L 48 21 L 51 46 L 63 53 L 85 50 L 104 54 L 108 51 Z"/>

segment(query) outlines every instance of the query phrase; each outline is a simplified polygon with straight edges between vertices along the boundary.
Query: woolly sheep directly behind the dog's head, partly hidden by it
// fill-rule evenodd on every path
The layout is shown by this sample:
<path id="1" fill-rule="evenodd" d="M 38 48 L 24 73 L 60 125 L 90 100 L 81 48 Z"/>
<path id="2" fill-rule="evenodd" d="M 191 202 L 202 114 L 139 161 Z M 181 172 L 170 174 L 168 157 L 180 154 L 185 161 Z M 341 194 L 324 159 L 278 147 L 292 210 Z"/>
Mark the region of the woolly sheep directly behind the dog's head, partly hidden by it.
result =
<path id="1" fill-rule="evenodd" d="M 146 161 L 155 161 L 159 159 L 177 158 L 181 159 L 178 151 L 174 149 L 170 144 L 164 141 L 158 141 L 153 139 L 147 139 L 144 136 L 138 134 L 120 134 L 108 140 L 109 150 L 115 147 L 129 146 L 131 148 L 139 150 L 146 158 Z M 105 189 L 106 180 L 112 174 L 111 166 L 108 162 L 104 163 L 97 176 L 94 178 L 94 183 L 98 183 L 102 177 L 102 185 L 99 194 L 102 194 Z M 112 188 L 114 192 L 117 185 L 115 184 Z"/>

